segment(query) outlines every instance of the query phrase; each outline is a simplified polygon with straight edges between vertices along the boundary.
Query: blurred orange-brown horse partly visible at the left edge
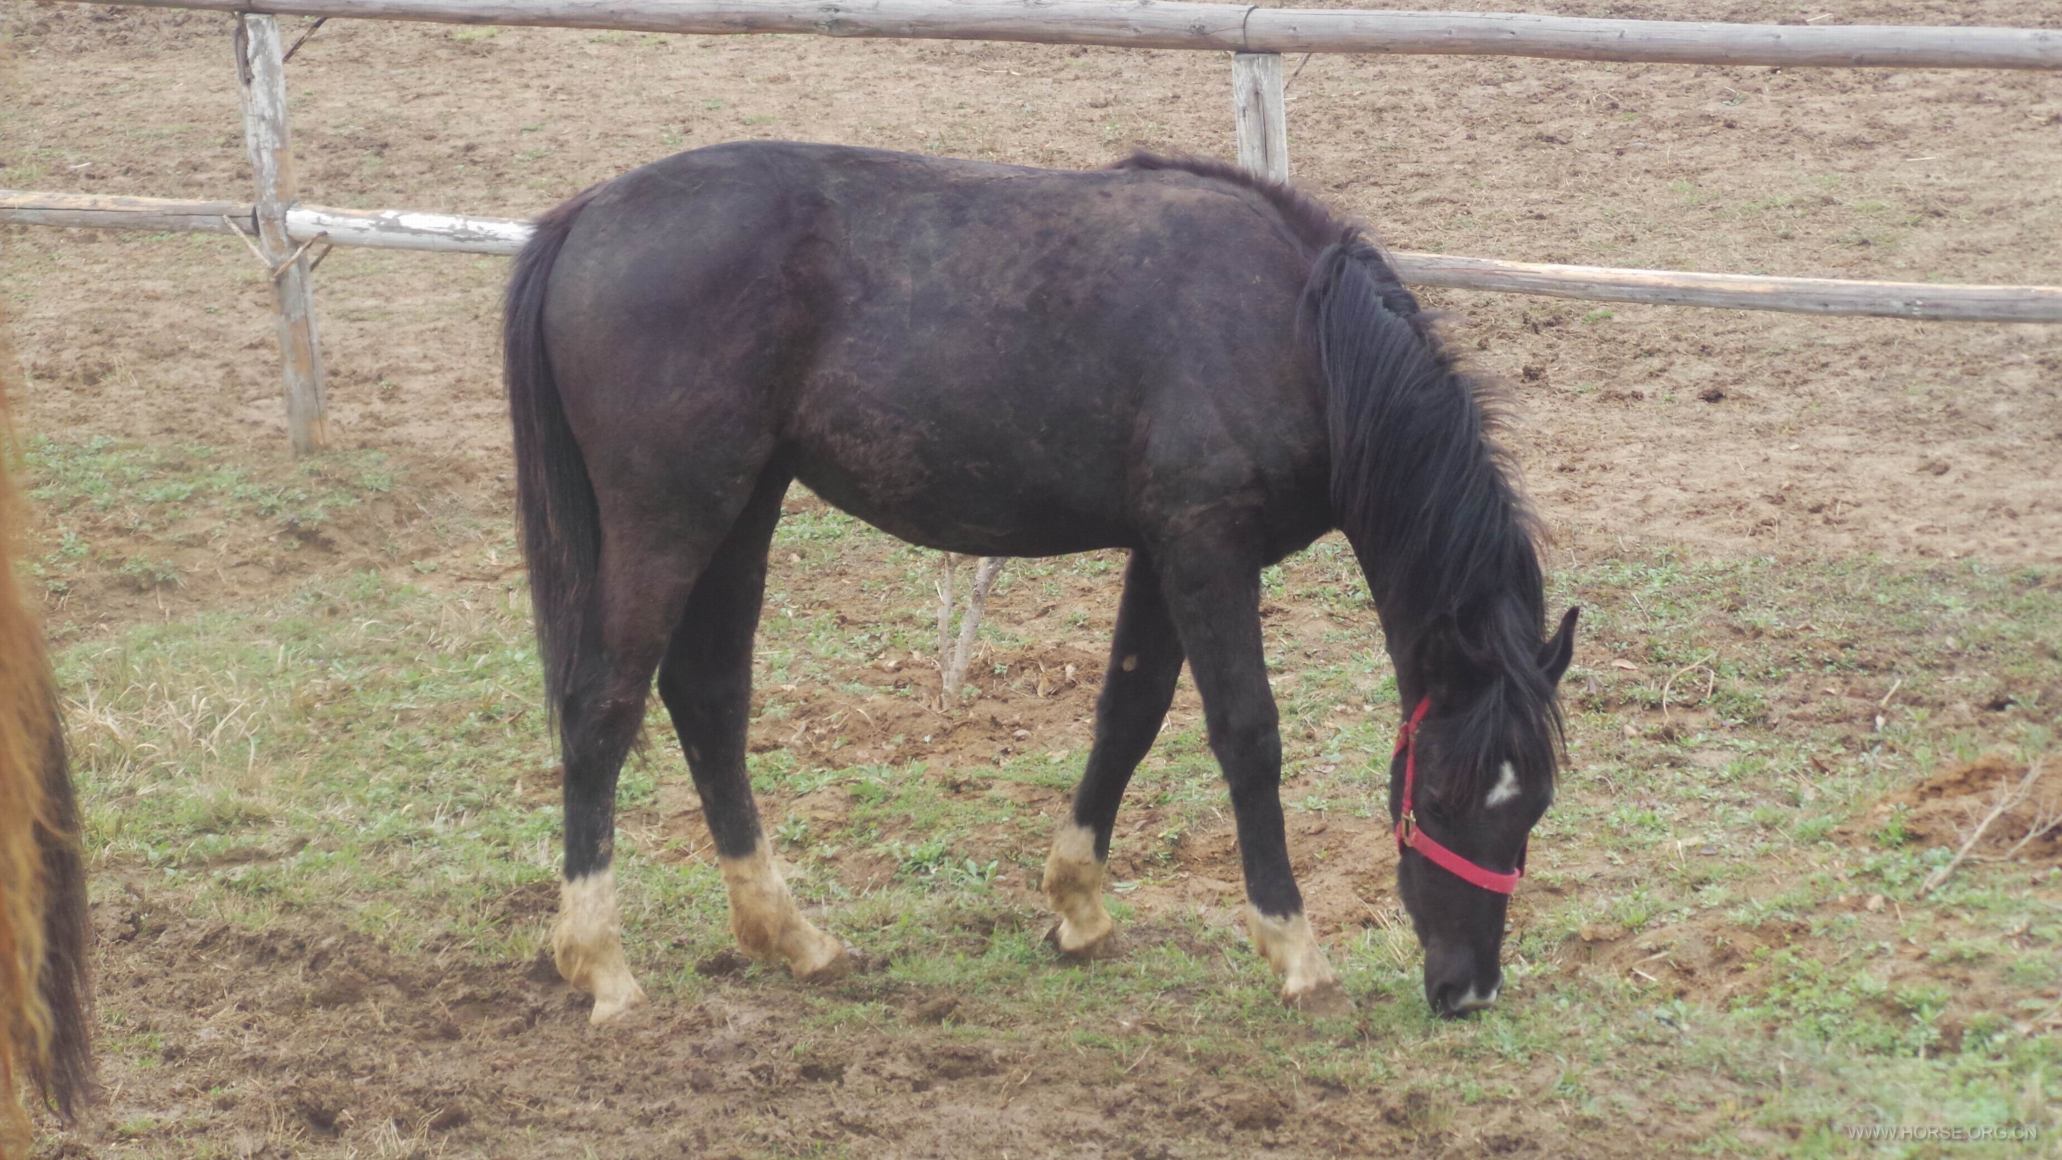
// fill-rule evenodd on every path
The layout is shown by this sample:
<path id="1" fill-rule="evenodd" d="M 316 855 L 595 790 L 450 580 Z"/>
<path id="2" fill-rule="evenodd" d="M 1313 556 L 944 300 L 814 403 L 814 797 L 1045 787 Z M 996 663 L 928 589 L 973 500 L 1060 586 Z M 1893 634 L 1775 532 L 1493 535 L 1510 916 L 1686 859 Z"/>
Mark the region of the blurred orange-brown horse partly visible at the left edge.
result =
<path id="1" fill-rule="evenodd" d="M 10 359 L 0 348 L 0 365 Z M 4 418 L 0 391 L 10 449 Z M 23 1080 L 66 1119 L 93 1096 L 78 804 L 43 633 L 14 579 L 19 532 L 21 497 L 0 470 L 0 1156 L 27 1150 Z"/>

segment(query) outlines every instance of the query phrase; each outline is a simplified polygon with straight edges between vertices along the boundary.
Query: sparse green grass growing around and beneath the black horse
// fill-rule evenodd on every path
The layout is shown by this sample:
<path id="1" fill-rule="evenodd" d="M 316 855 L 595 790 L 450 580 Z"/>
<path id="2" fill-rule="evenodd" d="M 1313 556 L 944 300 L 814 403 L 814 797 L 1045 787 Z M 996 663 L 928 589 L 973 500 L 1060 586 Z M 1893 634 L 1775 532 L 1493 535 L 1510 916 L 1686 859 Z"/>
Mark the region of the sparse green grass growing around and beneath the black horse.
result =
<path id="1" fill-rule="evenodd" d="M 60 523 L 134 509 L 169 527 L 194 507 L 282 521 L 379 490 L 377 459 L 328 464 L 280 490 L 204 449 L 31 445 L 37 494 Z M 773 552 L 763 719 L 784 721 L 808 688 L 880 694 L 854 686 L 858 668 L 934 641 L 934 554 L 819 507 L 790 515 Z M 91 556 L 60 538 L 43 567 L 80 560 Z M 1118 554 L 1012 562 L 996 602 L 1085 583 L 1113 602 L 1120 567 Z M 893 612 L 845 616 L 847 583 L 895 598 Z M 1266 600 L 1293 612 L 1266 622 L 1291 824 L 1379 818 L 1396 692 L 1353 554 L 1326 540 L 1264 583 Z M 1845 1154 L 1850 1123 L 2062 1129 L 2052 1111 L 2062 1047 L 2029 1022 L 2062 981 L 2058 880 L 2029 888 L 2023 867 L 1971 863 L 1920 900 L 1947 851 L 1911 841 L 1897 814 L 1868 812 L 1984 750 L 2052 754 L 2062 577 L 1660 550 L 1584 560 L 1551 585 L 1557 608 L 1586 606 L 1565 684 L 1571 762 L 1518 898 L 1507 999 L 1466 1022 L 1427 1014 L 1404 923 L 1365 925 L 1332 948 L 1359 1012 L 1313 1022 L 1278 1008 L 1223 913 L 1134 905 L 1202 869 L 1179 865 L 1179 834 L 1223 826 L 1200 725 L 1171 723 L 1134 783 L 1128 816 L 1151 808 L 1159 824 L 1132 837 L 1120 822 L 1120 845 L 1138 857 L 1111 902 L 1120 925 L 1151 937 L 1091 968 L 1060 966 L 1041 944 L 1031 888 L 1050 812 L 1012 795 L 1068 787 L 1078 750 L 1033 738 L 994 764 L 951 771 L 821 766 L 775 746 L 751 758 L 753 775 L 773 841 L 800 872 L 796 892 L 887 964 L 880 985 L 967 995 L 982 1036 L 1103 1059 L 1111 1076 L 1159 1055 L 1186 1073 L 1386 1092 L 1419 1133 L 1474 1104 L 1551 1108 L 1577 1135 L 1666 1108 L 1714 1154 Z M 95 861 L 148 876 L 196 915 L 254 929 L 309 919 L 375 933 L 404 956 L 520 968 L 544 931 L 511 919 L 507 900 L 551 890 L 559 810 L 542 789 L 555 758 L 516 595 L 332 575 L 287 600 L 72 643 L 60 678 Z M 988 639 L 1008 649 L 1045 633 L 1103 647 L 1107 626 L 1056 620 L 998 618 Z M 1893 682 L 1876 727 L 1856 705 L 1872 707 Z M 1827 686 L 1864 694 L 1815 692 Z M 1975 723 L 1959 705 L 1980 707 Z M 734 981 L 693 970 L 730 942 L 724 894 L 703 834 L 658 824 L 687 771 L 656 709 L 650 731 L 621 801 L 633 964 L 660 1001 L 779 987 L 761 968 Z M 847 795 L 839 818 L 792 810 L 825 789 Z M 1856 826 L 1866 837 L 1845 837 Z M 1235 878 L 1235 859 L 1208 874 Z M 1889 909 L 1839 905 L 1856 894 L 1889 898 L 1901 925 L 1885 925 Z M 1604 946 L 1658 940 L 1670 954 L 1668 940 L 1695 929 L 1755 944 L 1738 985 L 1678 997 L 1656 970 L 1604 973 L 1579 954 L 1586 931 L 1606 931 Z M 1926 954 L 1899 954 L 1920 944 Z M 1957 989 L 1951 968 L 1994 983 Z M 955 1034 L 951 1022 L 885 1018 L 870 987 L 802 991 L 810 1034 Z"/>

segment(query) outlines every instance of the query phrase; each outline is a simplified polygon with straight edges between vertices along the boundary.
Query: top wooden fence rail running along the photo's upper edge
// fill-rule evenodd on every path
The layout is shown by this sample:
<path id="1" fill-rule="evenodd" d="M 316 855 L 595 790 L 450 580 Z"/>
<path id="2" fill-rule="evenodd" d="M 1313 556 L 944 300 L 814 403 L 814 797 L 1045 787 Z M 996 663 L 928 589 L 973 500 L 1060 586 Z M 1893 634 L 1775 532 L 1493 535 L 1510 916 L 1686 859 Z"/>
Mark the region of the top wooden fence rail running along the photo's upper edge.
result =
<path id="1" fill-rule="evenodd" d="M 107 0 L 76 0 L 107 2 Z M 1656 64 L 2062 68 L 2062 29 L 1726 25 L 1524 12 L 1355 12 L 1179 0 L 113 0 L 276 16 L 812 33 L 1225 52 L 1540 56 Z"/>

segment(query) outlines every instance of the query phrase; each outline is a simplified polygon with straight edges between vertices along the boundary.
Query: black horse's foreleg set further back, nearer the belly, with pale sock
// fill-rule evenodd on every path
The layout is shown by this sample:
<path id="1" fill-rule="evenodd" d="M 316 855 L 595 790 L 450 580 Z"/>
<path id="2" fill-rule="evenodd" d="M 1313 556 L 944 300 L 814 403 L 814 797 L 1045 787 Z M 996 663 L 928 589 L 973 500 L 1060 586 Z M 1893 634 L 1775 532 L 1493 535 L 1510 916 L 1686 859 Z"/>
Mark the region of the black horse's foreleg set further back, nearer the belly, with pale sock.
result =
<path id="1" fill-rule="evenodd" d="M 1074 789 L 1074 808 L 1045 855 L 1045 902 L 1060 917 L 1052 942 L 1066 956 L 1093 956 L 1107 946 L 1109 913 L 1103 909 L 1103 867 L 1109 828 L 1118 820 L 1124 787 L 1159 736 L 1173 684 L 1182 676 L 1182 641 L 1175 637 L 1159 577 L 1142 552 L 1132 554 L 1118 606 L 1118 633 L 1109 643 L 1109 670 L 1095 701 L 1095 746 Z"/>

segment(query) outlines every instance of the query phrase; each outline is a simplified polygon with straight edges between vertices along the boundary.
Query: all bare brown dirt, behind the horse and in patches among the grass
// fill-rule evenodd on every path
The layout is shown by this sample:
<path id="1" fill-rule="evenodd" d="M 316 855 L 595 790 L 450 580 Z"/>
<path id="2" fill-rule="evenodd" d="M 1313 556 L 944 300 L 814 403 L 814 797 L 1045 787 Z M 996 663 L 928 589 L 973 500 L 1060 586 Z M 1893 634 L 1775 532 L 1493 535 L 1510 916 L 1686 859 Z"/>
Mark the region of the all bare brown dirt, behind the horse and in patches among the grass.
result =
<path id="1" fill-rule="evenodd" d="M 1780 0 L 1532 8 L 1782 23 L 1819 14 Z M 2056 23 L 2039 0 L 1975 10 L 1868 0 L 1837 16 Z M 287 25 L 293 37 L 307 23 Z M 19 2 L 0 12 L 0 35 L 12 52 L 0 66 L 0 185 L 247 196 L 227 16 Z M 2062 284 L 2062 76 L 1316 56 L 1289 70 L 1295 179 L 1398 249 Z M 509 216 L 654 157 L 736 138 L 1052 167 L 1103 165 L 1138 146 L 1223 155 L 1227 72 L 1219 54 L 355 21 L 326 25 L 289 66 L 305 200 Z M 408 480 L 305 536 L 276 521 L 192 515 L 153 525 L 124 509 L 66 511 L 66 534 L 107 556 L 163 554 L 181 581 L 97 573 L 56 585 L 60 639 L 256 604 L 318 575 L 511 575 L 511 554 L 454 532 L 499 527 L 513 505 L 497 379 L 503 276 L 503 260 L 330 255 L 315 284 L 330 427 L 344 455 L 295 468 L 264 274 L 241 245 L 0 227 L 6 321 L 27 371 L 14 400 L 25 431 L 60 443 L 227 449 L 268 486 L 320 492 L 367 464 Z M 1678 544 L 1714 556 L 2062 562 L 2058 328 L 1425 299 L 1452 313 L 1456 344 L 1511 383 L 1514 443 L 1569 560 Z M 790 511 L 814 509 L 812 499 L 790 501 Z M 45 542 L 56 540 L 58 530 L 45 530 Z M 829 598 L 800 573 L 788 579 Z M 1019 626 L 1080 610 L 1087 628 L 1078 645 L 1047 633 L 1033 649 L 984 657 L 1039 692 L 998 698 L 965 738 L 936 729 L 913 742 L 924 711 L 905 709 L 911 721 L 880 723 L 864 744 L 883 758 L 880 746 L 895 744 L 897 760 L 967 764 L 1031 736 L 1041 748 L 1078 750 L 1111 595 L 1107 585 L 1076 585 L 1050 606 L 1027 598 L 1000 608 Z M 854 598 L 850 614 L 885 604 Z M 1276 612 L 1309 620 L 1311 633 L 1322 626 L 1313 614 Z M 872 666 L 854 680 L 893 688 L 903 678 Z M 833 760 L 827 740 L 814 748 L 825 733 L 810 723 L 835 711 L 819 703 L 777 733 L 761 725 L 755 746 Z M 1177 723 L 1196 711 L 1184 692 Z M 1953 830 L 2002 775 L 1965 766 L 1916 789 L 1914 824 Z M 548 785 L 534 791 L 551 795 Z M 1058 791 L 1027 804 L 1056 801 Z M 845 808 L 835 795 L 788 806 L 800 816 Z M 1126 816 L 1134 820 L 1151 826 L 1153 816 Z M 662 799 L 625 824 L 685 830 L 699 818 Z M 1394 923 L 1371 902 L 1386 898 L 1388 878 L 1377 830 L 1338 818 L 1299 837 L 1328 929 Z M 1377 851 L 1375 861 L 1322 867 L 1320 853 L 1334 845 Z M 2052 849 L 2033 853 L 2035 865 L 2056 861 Z M 1177 855 L 1192 876 L 1177 894 L 1140 898 L 1140 909 L 1202 907 L 1229 921 L 1229 826 L 1190 834 Z M 103 987 L 120 1005 L 159 1008 L 155 1032 L 167 1047 L 163 1067 L 130 1069 L 122 1082 L 153 1088 L 155 1108 L 219 1113 L 227 1127 L 210 1135 L 217 1154 L 282 1154 L 285 1121 L 324 1154 L 353 1137 L 355 1123 L 412 1125 L 390 1127 L 381 1156 L 429 1154 L 423 1139 L 460 1150 L 532 1139 L 538 1156 L 577 1154 L 575 1139 L 590 1139 L 590 1154 L 808 1154 L 831 1131 L 864 1141 L 856 1154 L 868 1156 L 1056 1154 L 1056 1139 L 1091 1156 L 1402 1152 L 1415 1139 L 1452 1154 L 1528 1154 L 1557 1139 L 1495 1119 L 1464 1139 L 1425 1135 L 1425 1108 L 1400 1094 L 1334 1106 L 1336 1092 L 1322 1084 L 1289 1098 L 1221 1078 L 1208 1061 L 1155 1061 L 1109 1082 L 1099 1061 L 1019 1057 L 1000 1032 L 984 1036 L 979 997 L 868 977 L 854 995 L 878 989 L 883 1018 L 951 1016 L 971 1030 L 918 1057 L 852 1040 L 819 1053 L 810 1028 L 784 1018 L 779 995 L 736 989 L 594 1036 L 584 999 L 546 962 L 524 977 L 445 970 L 437 948 L 425 962 L 348 931 L 250 933 L 188 915 L 142 869 L 124 882 L 97 915 L 113 948 Z M 542 923 L 553 905 L 548 894 L 516 896 L 511 919 Z M 1029 915 L 1029 894 L 1023 905 Z M 1889 923 L 1881 898 L 1858 894 L 1854 911 Z M 1155 931 L 1182 937 L 1144 927 Z M 955 937 L 979 946 L 996 933 Z M 1656 952 L 1598 929 L 1571 954 L 1648 970 L 1674 954 L 1666 966 L 1685 987 L 1724 977 L 1742 954 L 1714 950 L 1695 931 L 1674 937 L 1672 952 Z M 699 968 L 722 977 L 734 966 Z M 1637 1141 L 1621 1148 L 1641 1152 Z"/>

